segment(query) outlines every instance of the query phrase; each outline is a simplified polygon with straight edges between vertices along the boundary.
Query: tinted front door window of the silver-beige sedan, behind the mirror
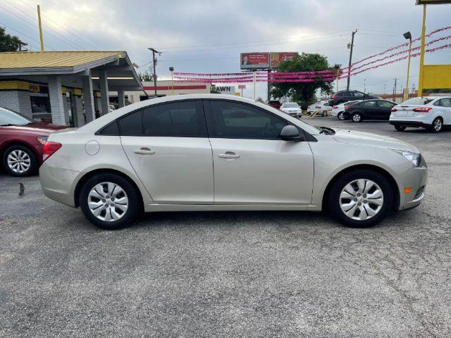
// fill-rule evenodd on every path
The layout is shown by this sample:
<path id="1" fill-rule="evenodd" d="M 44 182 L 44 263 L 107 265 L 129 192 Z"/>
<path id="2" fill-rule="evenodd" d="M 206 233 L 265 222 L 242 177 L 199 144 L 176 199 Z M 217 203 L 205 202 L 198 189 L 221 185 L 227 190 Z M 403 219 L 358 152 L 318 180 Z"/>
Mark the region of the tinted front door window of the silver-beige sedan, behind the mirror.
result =
<path id="1" fill-rule="evenodd" d="M 208 132 L 212 137 L 277 139 L 288 122 L 269 112 L 230 101 L 210 101 Z"/>

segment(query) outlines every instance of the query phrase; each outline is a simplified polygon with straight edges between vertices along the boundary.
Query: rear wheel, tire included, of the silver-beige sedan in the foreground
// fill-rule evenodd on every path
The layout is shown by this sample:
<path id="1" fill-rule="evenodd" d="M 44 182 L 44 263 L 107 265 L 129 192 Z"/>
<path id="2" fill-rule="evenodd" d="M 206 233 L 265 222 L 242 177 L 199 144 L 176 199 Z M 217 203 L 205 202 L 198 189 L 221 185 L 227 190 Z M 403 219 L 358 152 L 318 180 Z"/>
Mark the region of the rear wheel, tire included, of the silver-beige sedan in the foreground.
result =
<path id="1" fill-rule="evenodd" d="M 117 174 L 97 174 L 80 191 L 83 214 L 99 228 L 125 228 L 136 219 L 140 206 L 133 185 Z"/>

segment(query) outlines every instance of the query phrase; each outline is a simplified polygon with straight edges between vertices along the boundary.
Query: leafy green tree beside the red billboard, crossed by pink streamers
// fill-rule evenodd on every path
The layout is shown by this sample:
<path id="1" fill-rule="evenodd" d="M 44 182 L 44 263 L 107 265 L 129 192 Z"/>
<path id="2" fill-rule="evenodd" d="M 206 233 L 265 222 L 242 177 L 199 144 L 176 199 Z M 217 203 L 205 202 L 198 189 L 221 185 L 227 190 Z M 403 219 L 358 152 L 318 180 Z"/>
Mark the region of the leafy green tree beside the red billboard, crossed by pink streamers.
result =
<path id="1" fill-rule="evenodd" d="M 279 72 L 312 72 L 320 70 L 336 70 L 340 65 L 330 66 L 327 57 L 318 53 L 302 53 L 291 60 L 279 63 Z M 324 82 L 318 77 L 314 82 L 286 82 L 272 83 L 271 94 L 277 99 L 289 96 L 293 101 L 299 102 L 304 108 L 315 99 L 315 93 L 320 90 L 322 94 L 332 91 L 333 84 Z"/>

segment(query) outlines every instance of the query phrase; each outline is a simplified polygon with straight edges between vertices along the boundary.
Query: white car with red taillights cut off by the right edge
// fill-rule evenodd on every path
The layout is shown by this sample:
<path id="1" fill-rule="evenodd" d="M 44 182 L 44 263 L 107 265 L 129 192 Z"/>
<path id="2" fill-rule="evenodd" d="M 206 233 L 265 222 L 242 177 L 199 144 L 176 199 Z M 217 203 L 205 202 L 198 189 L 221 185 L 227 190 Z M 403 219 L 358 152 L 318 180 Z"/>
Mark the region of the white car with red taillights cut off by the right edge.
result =
<path id="1" fill-rule="evenodd" d="M 397 131 L 423 127 L 441 132 L 451 126 L 451 96 L 414 97 L 394 106 L 389 121 Z"/>

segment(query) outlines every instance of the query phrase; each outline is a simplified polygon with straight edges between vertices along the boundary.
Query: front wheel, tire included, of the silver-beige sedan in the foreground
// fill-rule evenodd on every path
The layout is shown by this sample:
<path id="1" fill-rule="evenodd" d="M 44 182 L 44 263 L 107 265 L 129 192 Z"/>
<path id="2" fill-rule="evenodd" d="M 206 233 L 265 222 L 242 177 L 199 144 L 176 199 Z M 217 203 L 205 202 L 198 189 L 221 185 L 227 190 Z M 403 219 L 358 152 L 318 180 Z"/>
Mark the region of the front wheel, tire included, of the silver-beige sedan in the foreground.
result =
<path id="1" fill-rule="evenodd" d="M 381 221 L 393 206 L 393 191 L 382 174 L 359 169 L 341 176 L 328 196 L 328 210 L 342 224 L 365 228 Z"/>

